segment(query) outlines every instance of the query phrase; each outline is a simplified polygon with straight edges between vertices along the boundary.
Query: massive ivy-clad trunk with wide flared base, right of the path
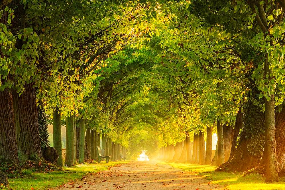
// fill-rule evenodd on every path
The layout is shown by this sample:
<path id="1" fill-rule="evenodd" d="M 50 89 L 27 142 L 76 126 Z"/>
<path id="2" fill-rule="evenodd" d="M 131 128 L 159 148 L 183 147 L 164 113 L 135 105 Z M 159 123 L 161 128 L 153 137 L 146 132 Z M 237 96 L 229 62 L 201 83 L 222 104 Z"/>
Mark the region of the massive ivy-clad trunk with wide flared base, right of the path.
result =
<path id="1" fill-rule="evenodd" d="M 218 170 L 245 172 L 257 167 L 260 162 L 264 143 L 264 113 L 252 101 L 247 103 L 244 111 L 243 128 L 235 155 Z"/>

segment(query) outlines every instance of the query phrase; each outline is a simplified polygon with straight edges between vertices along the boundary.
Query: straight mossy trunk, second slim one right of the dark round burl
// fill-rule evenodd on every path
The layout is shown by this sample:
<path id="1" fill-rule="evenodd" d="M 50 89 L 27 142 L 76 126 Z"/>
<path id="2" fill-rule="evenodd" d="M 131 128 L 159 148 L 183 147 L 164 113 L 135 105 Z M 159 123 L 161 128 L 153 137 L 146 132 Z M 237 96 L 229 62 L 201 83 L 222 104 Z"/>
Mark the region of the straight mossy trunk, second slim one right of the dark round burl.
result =
<path id="1" fill-rule="evenodd" d="M 65 165 L 72 166 L 74 164 L 74 128 L 73 115 L 66 118 L 66 154 Z"/>

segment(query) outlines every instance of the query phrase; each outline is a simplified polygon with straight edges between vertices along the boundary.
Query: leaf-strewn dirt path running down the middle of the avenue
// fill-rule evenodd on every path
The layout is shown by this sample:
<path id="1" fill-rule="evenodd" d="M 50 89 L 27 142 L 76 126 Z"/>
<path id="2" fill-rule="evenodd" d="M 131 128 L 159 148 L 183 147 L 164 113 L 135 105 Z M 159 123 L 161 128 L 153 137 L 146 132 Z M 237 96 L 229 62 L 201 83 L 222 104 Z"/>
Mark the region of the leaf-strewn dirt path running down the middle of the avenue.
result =
<path id="1" fill-rule="evenodd" d="M 210 181 L 166 164 L 133 161 L 88 175 L 58 189 L 223 189 Z"/>

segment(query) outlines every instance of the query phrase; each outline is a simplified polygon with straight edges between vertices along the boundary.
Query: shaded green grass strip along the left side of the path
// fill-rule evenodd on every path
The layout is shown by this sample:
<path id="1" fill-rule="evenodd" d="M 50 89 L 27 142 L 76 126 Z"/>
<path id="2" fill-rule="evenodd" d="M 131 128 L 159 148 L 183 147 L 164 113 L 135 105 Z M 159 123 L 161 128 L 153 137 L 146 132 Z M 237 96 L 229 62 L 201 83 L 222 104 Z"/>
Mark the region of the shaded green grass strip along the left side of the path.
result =
<path id="1" fill-rule="evenodd" d="M 9 185 L 11 189 L 49 189 L 76 179 L 82 179 L 87 173 L 107 170 L 110 166 L 122 163 L 127 163 L 127 161 L 109 162 L 108 164 L 105 162 L 100 164 L 78 164 L 73 167 L 64 167 L 62 171 L 31 173 L 30 177 L 9 179 Z"/>

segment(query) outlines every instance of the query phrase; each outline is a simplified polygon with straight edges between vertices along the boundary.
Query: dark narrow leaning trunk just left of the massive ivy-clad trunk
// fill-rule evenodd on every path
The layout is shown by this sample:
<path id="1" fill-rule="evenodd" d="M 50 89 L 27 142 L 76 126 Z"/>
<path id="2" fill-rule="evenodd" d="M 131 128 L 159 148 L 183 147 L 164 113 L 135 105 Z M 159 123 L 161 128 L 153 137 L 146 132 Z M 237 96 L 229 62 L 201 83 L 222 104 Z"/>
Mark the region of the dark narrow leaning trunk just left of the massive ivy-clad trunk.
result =
<path id="1" fill-rule="evenodd" d="M 237 117 L 235 119 L 235 128 L 234 128 L 234 134 L 233 134 L 233 141 L 231 146 L 231 153 L 229 156 L 229 161 L 233 158 L 235 155 L 235 152 L 237 150 L 237 137 L 239 136 L 239 131 L 243 127 L 243 113 L 241 112 L 241 109 L 239 109 L 237 113 Z"/>

